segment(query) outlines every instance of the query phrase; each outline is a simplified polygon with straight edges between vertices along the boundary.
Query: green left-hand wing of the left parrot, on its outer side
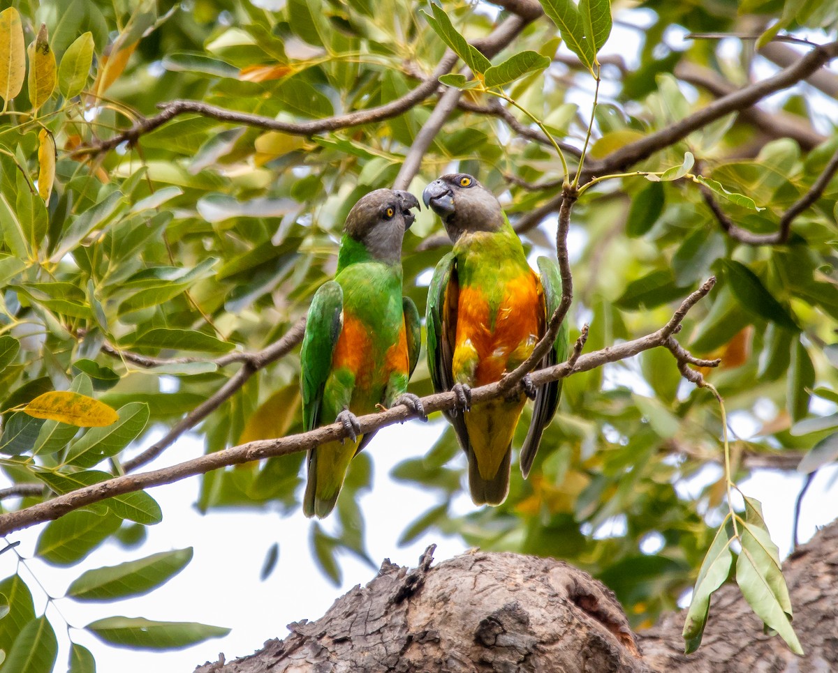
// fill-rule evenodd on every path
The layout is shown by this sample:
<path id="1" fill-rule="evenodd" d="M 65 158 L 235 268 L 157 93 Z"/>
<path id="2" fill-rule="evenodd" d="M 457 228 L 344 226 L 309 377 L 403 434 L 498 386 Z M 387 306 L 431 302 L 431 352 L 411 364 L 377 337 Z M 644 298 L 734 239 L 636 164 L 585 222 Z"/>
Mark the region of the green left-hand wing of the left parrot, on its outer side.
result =
<path id="1" fill-rule="evenodd" d="M 323 387 L 332 371 L 334 345 L 344 326 L 344 290 L 334 280 L 323 283 L 308 307 L 306 334 L 300 352 L 300 392 L 303 393 L 303 428 L 320 424 Z M 331 423 L 334 419 L 328 419 Z"/>

